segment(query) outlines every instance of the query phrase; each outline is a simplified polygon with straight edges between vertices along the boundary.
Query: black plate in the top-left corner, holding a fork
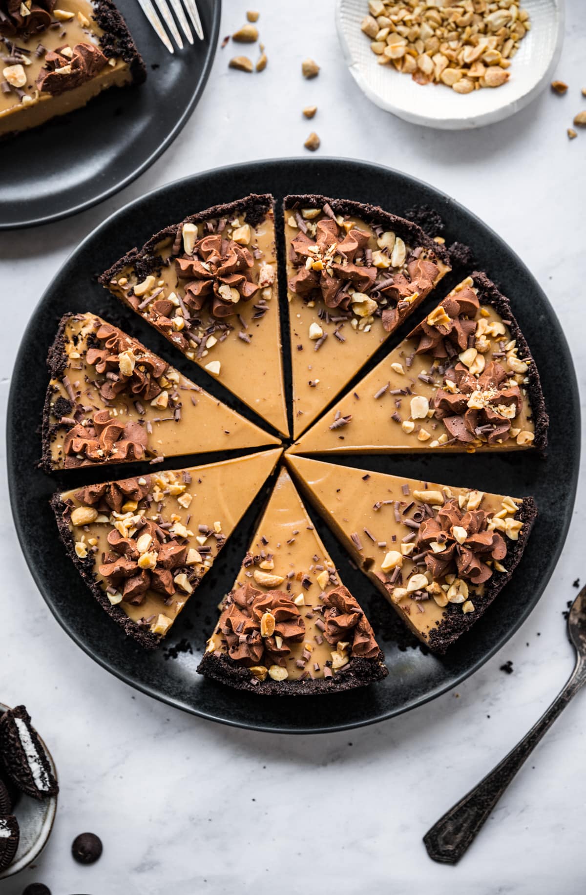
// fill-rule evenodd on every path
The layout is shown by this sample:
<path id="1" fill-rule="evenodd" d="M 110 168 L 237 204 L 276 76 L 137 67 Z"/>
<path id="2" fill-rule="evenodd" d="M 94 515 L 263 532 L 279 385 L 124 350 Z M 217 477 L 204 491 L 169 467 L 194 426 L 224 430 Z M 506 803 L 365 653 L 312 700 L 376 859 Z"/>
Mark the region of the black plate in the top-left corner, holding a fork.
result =
<path id="1" fill-rule="evenodd" d="M 214 61 L 221 0 L 197 0 L 205 40 L 171 55 L 136 0 L 117 0 L 147 80 L 105 90 L 88 106 L 0 141 L 0 230 L 47 224 L 122 190 L 170 146 Z M 18 158 L 18 164 L 14 158 Z"/>

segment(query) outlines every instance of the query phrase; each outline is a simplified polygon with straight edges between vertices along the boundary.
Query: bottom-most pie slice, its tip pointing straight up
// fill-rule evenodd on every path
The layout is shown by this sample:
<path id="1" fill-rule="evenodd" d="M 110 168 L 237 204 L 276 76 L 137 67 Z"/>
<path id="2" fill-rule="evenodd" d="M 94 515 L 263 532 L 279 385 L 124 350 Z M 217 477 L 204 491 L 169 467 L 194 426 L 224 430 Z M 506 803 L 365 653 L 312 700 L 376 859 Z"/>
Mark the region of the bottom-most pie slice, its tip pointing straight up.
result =
<path id="1" fill-rule="evenodd" d="M 369 621 L 281 470 L 198 669 L 251 693 L 313 695 L 385 678 Z"/>

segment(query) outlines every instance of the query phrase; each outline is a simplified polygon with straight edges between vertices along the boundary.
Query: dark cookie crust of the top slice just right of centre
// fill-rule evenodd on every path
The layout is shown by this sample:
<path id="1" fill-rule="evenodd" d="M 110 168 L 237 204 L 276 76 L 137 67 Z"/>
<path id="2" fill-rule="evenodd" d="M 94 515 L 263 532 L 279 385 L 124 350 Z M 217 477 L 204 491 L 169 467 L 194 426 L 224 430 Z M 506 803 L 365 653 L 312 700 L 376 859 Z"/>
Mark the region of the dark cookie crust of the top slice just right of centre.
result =
<path id="1" fill-rule="evenodd" d="M 435 243 L 434 240 L 425 233 L 420 226 L 407 220 L 406 217 L 398 217 L 388 211 L 378 208 L 378 205 L 369 205 L 362 202 L 354 202 L 350 199 L 328 199 L 327 196 L 320 196 L 318 193 L 307 193 L 305 195 L 285 196 L 283 207 L 288 209 L 323 209 L 328 203 L 332 211 L 338 215 L 351 215 L 352 217 L 360 217 L 365 224 L 370 226 L 384 226 L 394 233 L 399 234 L 403 241 L 411 243 L 413 248 L 423 246 L 437 255 L 448 267 L 450 266 L 450 256 L 445 246 L 441 243 Z"/>

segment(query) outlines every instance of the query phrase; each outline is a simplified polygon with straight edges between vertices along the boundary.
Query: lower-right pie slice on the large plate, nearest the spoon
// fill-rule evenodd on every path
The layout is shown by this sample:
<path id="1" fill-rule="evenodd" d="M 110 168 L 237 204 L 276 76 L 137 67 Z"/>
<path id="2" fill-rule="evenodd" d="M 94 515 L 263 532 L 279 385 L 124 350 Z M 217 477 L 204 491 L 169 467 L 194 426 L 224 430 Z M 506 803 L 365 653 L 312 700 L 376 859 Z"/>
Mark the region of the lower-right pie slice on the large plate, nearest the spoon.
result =
<path id="1" fill-rule="evenodd" d="M 508 582 L 537 508 L 511 498 L 288 458 L 361 570 L 433 652 L 480 618 Z"/>

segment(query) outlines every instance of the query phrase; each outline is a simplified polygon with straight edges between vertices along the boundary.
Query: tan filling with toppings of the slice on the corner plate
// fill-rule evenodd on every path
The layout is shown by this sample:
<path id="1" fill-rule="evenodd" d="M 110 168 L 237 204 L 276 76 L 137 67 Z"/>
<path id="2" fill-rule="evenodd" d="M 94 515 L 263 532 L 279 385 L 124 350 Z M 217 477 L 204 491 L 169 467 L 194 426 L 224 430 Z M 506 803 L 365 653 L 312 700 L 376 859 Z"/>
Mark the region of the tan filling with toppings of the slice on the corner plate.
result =
<path id="1" fill-rule="evenodd" d="M 99 49 L 103 31 L 88 0 L 53 5 L 44 30 L 0 36 L 0 134 L 34 127 L 132 80 L 123 59 L 108 59 Z"/>

